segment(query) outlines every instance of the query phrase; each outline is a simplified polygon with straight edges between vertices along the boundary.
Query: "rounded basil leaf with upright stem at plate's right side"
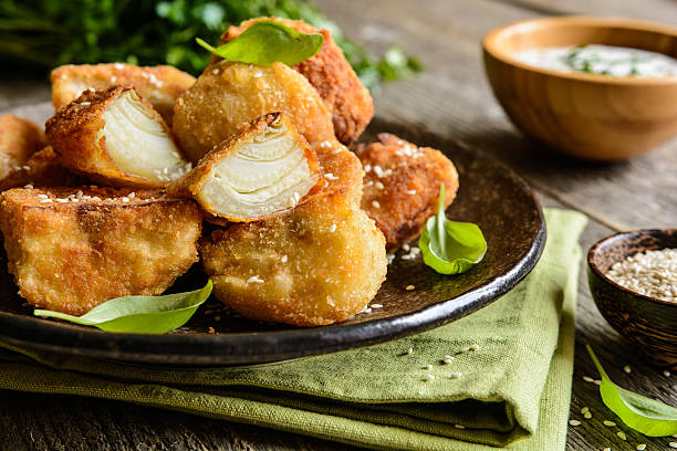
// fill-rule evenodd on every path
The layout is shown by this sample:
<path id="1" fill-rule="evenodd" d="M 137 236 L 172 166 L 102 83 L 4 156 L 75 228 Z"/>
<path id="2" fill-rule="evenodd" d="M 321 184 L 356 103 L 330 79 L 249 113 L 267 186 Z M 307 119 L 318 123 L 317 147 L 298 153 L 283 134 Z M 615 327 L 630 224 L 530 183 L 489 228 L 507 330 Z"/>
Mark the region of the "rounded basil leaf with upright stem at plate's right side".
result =
<path id="1" fill-rule="evenodd" d="M 437 214 L 426 222 L 418 247 L 424 263 L 441 274 L 466 272 L 487 252 L 487 241 L 477 224 L 449 221 L 445 216 L 444 183 L 439 190 Z"/>

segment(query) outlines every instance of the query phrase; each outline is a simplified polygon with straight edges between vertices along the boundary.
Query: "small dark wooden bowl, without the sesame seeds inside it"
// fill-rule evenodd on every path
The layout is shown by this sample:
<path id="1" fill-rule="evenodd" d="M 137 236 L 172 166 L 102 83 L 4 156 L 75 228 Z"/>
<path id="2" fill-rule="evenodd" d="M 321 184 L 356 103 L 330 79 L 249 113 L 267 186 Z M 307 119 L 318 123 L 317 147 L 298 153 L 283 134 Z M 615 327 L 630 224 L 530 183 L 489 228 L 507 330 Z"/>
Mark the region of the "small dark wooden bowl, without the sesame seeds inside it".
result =
<path id="1" fill-rule="evenodd" d="M 675 248 L 677 229 L 653 229 L 616 233 L 587 252 L 587 284 L 604 318 L 649 361 L 673 369 L 677 367 L 677 303 L 635 293 L 605 273 L 636 253 Z"/>

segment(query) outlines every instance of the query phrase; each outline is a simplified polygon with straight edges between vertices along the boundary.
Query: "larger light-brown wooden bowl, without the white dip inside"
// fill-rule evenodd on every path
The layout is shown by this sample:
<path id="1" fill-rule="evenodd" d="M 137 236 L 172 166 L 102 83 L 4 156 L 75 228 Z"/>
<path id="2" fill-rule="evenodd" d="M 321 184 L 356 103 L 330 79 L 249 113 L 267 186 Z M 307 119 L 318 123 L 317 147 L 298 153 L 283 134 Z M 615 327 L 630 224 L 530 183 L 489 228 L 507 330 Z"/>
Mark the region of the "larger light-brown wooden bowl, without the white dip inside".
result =
<path id="1" fill-rule="evenodd" d="M 632 19 L 562 17 L 525 20 L 483 40 L 493 94 L 528 135 L 563 153 L 623 160 L 677 135 L 677 76 L 617 77 L 563 73 L 521 63 L 529 49 L 606 44 L 677 57 L 677 27 Z"/>

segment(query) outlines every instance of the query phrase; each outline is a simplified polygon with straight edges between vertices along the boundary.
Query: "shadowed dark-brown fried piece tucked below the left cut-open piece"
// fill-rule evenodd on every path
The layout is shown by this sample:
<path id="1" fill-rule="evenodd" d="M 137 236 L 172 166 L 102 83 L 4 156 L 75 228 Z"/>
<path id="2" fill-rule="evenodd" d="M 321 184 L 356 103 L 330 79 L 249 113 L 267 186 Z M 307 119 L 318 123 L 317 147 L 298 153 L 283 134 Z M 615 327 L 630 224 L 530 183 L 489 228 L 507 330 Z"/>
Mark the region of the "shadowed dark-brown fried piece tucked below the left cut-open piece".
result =
<path id="1" fill-rule="evenodd" d="M 77 187 L 87 179 L 71 172 L 61 164 L 52 146 L 38 150 L 19 170 L 0 180 L 0 192 L 28 185 L 34 187 Z"/>

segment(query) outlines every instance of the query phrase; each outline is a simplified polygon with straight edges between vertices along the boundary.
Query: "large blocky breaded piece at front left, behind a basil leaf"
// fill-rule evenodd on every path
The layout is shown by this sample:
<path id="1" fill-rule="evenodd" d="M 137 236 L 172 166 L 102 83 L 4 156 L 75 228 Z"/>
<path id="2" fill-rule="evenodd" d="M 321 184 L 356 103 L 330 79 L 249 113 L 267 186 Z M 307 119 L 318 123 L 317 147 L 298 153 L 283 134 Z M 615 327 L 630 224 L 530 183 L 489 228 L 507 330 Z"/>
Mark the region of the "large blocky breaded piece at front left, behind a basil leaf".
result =
<path id="1" fill-rule="evenodd" d="M 156 295 L 197 258 L 200 213 L 190 200 L 129 188 L 11 189 L 0 227 L 19 294 L 81 315 L 118 296 Z"/>

